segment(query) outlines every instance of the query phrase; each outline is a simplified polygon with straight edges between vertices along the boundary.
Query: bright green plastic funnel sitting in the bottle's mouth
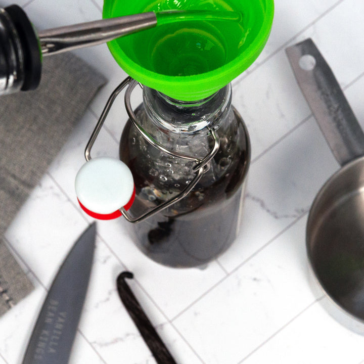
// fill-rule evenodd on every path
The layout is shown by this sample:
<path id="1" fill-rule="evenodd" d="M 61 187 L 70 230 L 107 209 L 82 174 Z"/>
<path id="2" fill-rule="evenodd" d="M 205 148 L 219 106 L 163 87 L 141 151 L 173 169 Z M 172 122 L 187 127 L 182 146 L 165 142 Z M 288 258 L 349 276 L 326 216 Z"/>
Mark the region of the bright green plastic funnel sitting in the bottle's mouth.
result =
<path id="1" fill-rule="evenodd" d="M 140 83 L 181 101 L 204 99 L 245 71 L 262 51 L 273 0 L 105 0 L 103 17 L 155 11 L 239 12 L 240 21 L 162 24 L 108 43 L 120 67 Z"/>

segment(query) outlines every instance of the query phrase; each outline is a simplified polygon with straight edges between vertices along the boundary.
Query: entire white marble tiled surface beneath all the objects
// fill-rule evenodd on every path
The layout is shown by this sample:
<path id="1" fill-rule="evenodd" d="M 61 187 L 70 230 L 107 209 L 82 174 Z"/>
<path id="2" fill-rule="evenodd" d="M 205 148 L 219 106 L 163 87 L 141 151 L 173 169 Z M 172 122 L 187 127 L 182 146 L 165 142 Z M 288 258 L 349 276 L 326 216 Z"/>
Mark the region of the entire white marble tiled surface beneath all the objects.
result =
<path id="1" fill-rule="evenodd" d="M 12 4 L 0 0 L 0 6 Z M 18 0 L 38 29 L 101 18 L 102 0 Z M 123 308 L 130 286 L 178 364 L 364 362 L 364 337 L 336 322 L 312 288 L 305 224 L 312 200 L 339 165 L 300 92 L 285 48 L 311 37 L 364 127 L 364 1 L 276 0 L 270 38 L 233 84 L 252 142 L 241 233 L 206 269 L 172 269 L 133 245 L 122 219 L 99 222 L 95 261 L 70 363 L 153 364 Z M 76 203 L 74 177 L 90 132 L 126 76 L 106 45 L 75 52 L 108 78 L 6 233 L 35 285 L 0 319 L 0 364 L 20 363 L 47 289 L 73 242 L 93 221 Z M 117 156 L 126 121 L 110 113 L 95 155 Z"/>

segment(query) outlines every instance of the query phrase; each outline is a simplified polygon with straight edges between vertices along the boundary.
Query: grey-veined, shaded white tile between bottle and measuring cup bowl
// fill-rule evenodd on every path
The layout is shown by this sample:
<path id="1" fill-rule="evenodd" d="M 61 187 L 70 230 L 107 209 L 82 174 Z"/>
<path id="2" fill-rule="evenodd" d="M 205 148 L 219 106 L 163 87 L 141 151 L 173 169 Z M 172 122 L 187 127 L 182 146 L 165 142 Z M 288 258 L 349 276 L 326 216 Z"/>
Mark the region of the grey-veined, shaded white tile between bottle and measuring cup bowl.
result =
<path id="1" fill-rule="evenodd" d="M 305 214 L 338 168 L 313 118 L 253 162 L 240 237 L 221 264 L 231 271 Z"/>

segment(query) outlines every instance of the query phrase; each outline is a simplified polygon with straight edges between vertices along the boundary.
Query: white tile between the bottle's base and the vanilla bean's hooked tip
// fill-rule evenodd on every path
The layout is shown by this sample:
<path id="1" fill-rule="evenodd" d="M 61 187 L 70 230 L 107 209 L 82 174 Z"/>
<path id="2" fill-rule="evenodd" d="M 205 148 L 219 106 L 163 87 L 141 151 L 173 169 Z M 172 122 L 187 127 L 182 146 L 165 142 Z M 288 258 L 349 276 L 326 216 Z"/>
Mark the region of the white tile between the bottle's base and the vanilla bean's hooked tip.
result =
<path id="1" fill-rule="evenodd" d="M 216 262 L 211 262 L 204 270 L 179 270 L 159 265 L 140 253 L 127 236 L 126 228 L 127 224 L 118 220 L 99 224 L 100 235 L 169 320 L 226 276 Z"/>

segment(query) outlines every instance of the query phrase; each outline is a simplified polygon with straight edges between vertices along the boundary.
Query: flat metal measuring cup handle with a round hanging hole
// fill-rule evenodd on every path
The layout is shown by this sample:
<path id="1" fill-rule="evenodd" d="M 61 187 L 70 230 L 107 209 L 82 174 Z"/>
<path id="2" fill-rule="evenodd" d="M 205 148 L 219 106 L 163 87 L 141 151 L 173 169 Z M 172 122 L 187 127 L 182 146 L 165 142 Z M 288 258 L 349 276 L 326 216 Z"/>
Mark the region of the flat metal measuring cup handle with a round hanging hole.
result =
<path id="1" fill-rule="evenodd" d="M 286 49 L 302 93 L 341 166 L 364 155 L 364 133 L 312 39 Z"/>

